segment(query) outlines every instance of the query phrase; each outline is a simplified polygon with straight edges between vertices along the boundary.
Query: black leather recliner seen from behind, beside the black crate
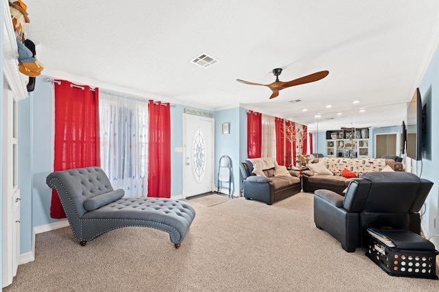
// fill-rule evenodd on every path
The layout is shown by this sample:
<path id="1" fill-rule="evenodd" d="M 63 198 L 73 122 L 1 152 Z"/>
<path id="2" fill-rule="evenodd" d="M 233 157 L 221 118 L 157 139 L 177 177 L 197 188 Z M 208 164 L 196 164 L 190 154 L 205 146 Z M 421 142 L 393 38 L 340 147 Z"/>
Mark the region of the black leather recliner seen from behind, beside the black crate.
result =
<path id="1" fill-rule="evenodd" d="M 316 190 L 314 222 L 346 252 L 366 246 L 366 228 L 404 229 L 420 234 L 419 210 L 433 182 L 407 172 L 370 172 L 353 180 L 346 195 Z"/>

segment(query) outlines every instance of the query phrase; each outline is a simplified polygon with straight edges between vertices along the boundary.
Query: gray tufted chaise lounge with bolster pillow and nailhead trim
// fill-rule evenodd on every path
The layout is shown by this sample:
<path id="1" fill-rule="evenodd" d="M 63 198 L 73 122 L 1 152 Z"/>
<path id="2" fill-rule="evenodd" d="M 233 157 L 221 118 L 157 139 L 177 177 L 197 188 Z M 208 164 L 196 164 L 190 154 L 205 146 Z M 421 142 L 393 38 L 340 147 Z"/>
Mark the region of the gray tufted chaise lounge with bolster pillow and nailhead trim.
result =
<path id="1" fill-rule="evenodd" d="M 46 183 L 57 191 L 73 236 L 82 246 L 116 228 L 144 226 L 168 232 L 178 248 L 195 217 L 191 205 L 176 199 L 123 198 L 124 191 L 113 190 L 99 167 L 56 171 Z"/>

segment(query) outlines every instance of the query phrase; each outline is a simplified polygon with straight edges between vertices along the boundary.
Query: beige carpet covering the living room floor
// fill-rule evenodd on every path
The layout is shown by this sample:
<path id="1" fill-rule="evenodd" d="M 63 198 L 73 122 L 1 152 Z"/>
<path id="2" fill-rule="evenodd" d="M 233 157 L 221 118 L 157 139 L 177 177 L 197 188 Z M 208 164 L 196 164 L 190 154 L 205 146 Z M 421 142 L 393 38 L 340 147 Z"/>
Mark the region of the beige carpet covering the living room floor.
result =
<path id="1" fill-rule="evenodd" d="M 209 198 L 206 198 L 209 199 Z M 213 201 L 216 199 L 213 197 Z M 121 228 L 81 247 L 71 230 L 36 236 L 36 260 L 3 291 L 438 291 L 345 252 L 313 223 L 313 195 L 268 206 L 242 197 L 206 207 L 179 250 L 165 232 Z"/>

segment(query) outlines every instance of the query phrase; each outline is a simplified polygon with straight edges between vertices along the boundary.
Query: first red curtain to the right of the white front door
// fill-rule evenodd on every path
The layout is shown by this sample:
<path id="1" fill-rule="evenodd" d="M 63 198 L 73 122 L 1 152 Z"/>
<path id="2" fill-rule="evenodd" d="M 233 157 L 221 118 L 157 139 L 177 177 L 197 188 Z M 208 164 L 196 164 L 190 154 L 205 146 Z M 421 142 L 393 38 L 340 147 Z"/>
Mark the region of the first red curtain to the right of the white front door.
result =
<path id="1" fill-rule="evenodd" d="M 247 112 L 247 157 L 259 158 L 262 155 L 262 114 Z"/>

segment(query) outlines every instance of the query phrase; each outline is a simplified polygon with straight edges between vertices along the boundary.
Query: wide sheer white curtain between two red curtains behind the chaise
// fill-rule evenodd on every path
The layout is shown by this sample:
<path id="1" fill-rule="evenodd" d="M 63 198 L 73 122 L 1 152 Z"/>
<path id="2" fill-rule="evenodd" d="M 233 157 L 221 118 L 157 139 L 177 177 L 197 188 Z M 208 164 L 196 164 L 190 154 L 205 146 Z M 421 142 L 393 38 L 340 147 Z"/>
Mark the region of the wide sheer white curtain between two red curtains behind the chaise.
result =
<path id="1" fill-rule="evenodd" d="M 125 197 L 147 195 L 148 104 L 107 90 L 99 90 L 101 167 L 112 187 Z"/>

